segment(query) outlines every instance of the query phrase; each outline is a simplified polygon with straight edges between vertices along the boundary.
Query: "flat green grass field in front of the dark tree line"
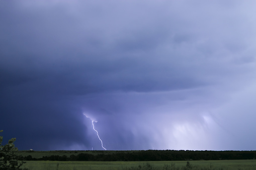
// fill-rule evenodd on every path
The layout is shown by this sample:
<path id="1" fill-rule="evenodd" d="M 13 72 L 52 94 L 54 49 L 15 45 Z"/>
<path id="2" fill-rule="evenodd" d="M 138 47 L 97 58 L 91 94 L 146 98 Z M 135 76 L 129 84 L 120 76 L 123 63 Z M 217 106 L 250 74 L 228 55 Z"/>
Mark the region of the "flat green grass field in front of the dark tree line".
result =
<path id="1" fill-rule="evenodd" d="M 30 170 L 80 170 L 80 169 L 256 169 L 256 160 L 191 160 L 192 168 L 186 168 L 187 161 L 26 161 L 23 167 Z M 143 165 L 149 163 L 150 168 Z M 172 164 L 175 164 L 172 167 Z M 139 168 L 139 165 L 142 167 Z M 144 167 L 144 168 L 143 168 Z"/>

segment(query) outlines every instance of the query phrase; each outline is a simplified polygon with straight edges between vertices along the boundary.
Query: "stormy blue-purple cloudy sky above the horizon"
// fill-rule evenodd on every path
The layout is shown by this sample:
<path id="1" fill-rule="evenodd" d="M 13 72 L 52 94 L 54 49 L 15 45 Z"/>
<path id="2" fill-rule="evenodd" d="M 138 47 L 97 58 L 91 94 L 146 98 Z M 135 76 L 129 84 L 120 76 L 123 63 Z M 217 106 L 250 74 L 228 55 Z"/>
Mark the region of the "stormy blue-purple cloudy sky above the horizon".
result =
<path id="1" fill-rule="evenodd" d="M 1 0 L 4 144 L 256 150 L 255 7 Z"/>

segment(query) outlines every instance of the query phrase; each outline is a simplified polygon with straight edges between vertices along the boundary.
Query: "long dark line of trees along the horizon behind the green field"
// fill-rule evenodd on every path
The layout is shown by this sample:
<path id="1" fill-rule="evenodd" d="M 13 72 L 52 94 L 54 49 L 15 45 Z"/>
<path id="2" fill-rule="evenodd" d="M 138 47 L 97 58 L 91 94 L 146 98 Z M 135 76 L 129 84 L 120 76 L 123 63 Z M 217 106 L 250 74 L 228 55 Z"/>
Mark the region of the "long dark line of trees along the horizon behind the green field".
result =
<path id="1" fill-rule="evenodd" d="M 24 160 L 58 161 L 163 161 L 163 160 L 234 160 L 254 159 L 256 151 L 209 151 L 209 150 L 139 150 L 108 151 L 106 153 L 79 153 L 77 155 L 51 155 L 34 158 L 23 156 Z"/>

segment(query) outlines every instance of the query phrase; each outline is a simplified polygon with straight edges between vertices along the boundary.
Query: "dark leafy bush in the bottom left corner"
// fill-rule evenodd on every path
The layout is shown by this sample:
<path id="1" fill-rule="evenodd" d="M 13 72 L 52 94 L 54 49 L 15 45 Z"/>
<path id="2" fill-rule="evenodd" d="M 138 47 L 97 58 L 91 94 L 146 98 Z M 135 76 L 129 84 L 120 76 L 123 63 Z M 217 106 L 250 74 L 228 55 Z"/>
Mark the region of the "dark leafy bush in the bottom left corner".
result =
<path id="1" fill-rule="evenodd" d="M 3 132 L 3 130 L 0 130 L 0 132 Z M 3 136 L 0 136 L 0 170 L 22 169 L 21 165 L 25 161 L 19 160 L 19 157 L 15 154 L 18 151 L 18 148 L 14 145 L 15 140 L 16 138 L 12 138 L 6 145 L 2 145 Z"/>

